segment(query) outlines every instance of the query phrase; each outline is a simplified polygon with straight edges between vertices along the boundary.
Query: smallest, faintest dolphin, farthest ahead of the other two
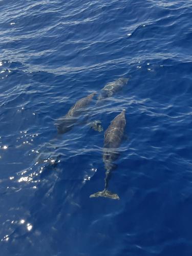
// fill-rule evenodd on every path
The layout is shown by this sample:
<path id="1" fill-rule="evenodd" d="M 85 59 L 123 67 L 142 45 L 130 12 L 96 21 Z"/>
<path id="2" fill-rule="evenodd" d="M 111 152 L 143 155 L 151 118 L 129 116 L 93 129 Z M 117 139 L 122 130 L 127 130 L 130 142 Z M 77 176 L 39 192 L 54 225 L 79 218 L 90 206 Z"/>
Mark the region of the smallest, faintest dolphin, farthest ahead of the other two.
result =
<path id="1" fill-rule="evenodd" d="M 108 82 L 101 90 L 101 93 L 98 96 L 98 100 L 111 97 L 114 93 L 121 90 L 123 86 L 127 84 L 128 80 L 129 78 L 121 77 L 113 82 Z"/>

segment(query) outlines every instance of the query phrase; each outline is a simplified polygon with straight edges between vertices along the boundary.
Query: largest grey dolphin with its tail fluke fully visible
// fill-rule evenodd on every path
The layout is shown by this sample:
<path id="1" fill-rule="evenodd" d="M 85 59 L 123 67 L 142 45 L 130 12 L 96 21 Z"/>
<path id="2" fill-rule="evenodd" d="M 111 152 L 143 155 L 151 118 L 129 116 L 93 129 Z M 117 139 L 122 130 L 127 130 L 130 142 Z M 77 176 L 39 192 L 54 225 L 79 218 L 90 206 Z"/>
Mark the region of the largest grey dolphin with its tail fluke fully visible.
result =
<path id="1" fill-rule="evenodd" d="M 108 197 L 112 199 L 119 199 L 117 194 L 108 190 L 108 183 L 111 176 L 111 171 L 114 168 L 113 161 L 118 158 L 117 148 L 119 147 L 125 128 L 125 110 L 116 116 L 104 133 L 104 149 L 103 149 L 103 162 L 106 169 L 105 173 L 105 186 L 104 190 L 92 194 L 92 197 Z"/>

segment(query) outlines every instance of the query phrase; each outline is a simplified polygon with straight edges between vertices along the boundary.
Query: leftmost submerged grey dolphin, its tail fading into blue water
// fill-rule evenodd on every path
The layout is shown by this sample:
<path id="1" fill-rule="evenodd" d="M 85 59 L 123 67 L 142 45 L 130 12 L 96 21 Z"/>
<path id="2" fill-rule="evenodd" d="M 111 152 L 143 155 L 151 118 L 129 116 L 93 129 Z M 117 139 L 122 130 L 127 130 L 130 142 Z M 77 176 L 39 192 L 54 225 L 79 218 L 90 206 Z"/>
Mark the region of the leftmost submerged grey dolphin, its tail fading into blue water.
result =
<path id="1" fill-rule="evenodd" d="M 79 99 L 65 116 L 59 118 L 56 123 L 59 134 L 67 133 L 72 129 L 83 109 L 91 103 L 94 95 L 95 93 L 92 93 L 87 97 Z"/>

